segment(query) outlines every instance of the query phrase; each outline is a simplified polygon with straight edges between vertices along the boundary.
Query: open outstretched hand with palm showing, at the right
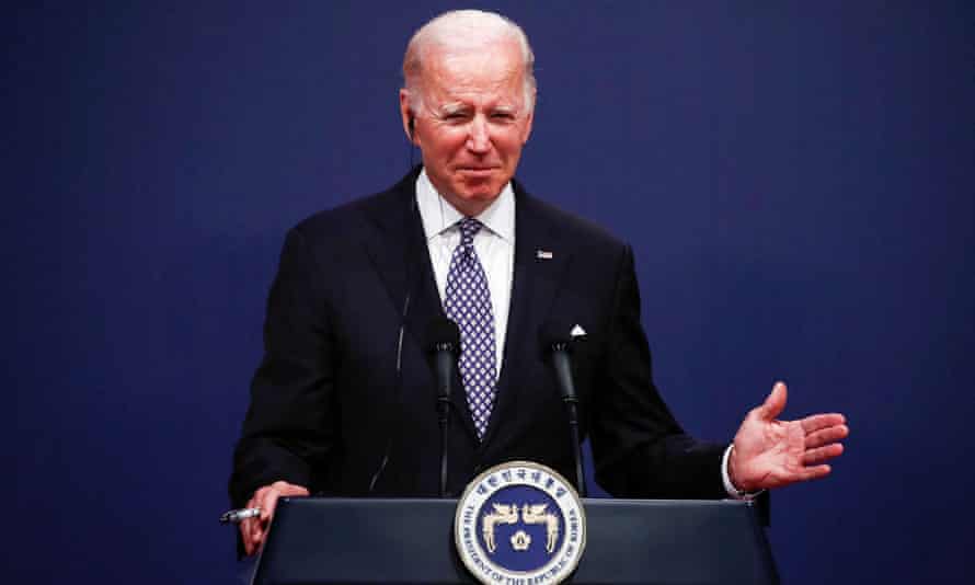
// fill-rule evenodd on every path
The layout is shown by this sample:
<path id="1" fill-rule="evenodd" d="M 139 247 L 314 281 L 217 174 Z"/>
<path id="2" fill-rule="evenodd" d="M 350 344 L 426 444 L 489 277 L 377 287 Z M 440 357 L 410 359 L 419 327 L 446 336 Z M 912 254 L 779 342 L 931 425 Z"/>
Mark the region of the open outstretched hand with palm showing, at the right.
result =
<path id="1" fill-rule="evenodd" d="M 785 408 L 788 390 L 777 382 L 760 406 L 753 409 L 735 435 L 729 475 L 738 491 L 757 492 L 826 477 L 826 461 L 842 454 L 849 435 L 842 414 L 814 414 L 801 421 L 776 418 Z"/>

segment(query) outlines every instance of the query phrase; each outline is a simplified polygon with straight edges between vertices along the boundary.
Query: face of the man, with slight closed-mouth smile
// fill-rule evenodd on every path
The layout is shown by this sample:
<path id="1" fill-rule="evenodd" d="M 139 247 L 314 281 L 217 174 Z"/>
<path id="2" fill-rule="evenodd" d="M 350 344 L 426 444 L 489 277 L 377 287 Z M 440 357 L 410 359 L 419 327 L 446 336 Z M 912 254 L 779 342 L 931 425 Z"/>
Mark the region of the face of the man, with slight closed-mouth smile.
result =
<path id="1" fill-rule="evenodd" d="M 437 191 L 464 215 L 491 205 L 518 167 L 531 133 L 525 66 L 514 42 L 485 50 L 432 51 L 413 140 Z M 405 94 L 400 94 L 404 123 Z"/>

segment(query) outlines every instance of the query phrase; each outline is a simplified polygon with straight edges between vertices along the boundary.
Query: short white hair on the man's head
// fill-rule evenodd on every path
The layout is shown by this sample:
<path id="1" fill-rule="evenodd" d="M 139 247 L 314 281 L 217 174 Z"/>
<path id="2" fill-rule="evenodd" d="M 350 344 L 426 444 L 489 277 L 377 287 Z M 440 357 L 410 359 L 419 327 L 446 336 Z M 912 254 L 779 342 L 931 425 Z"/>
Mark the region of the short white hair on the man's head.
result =
<path id="1" fill-rule="evenodd" d="M 481 10 L 452 10 L 444 12 L 420 27 L 406 45 L 403 56 L 403 84 L 409 95 L 410 108 L 423 107 L 422 82 L 424 60 L 435 47 L 448 50 L 480 49 L 498 41 L 514 41 L 521 51 L 525 65 L 525 105 L 535 108 L 535 53 L 528 36 L 514 21 L 494 12 Z"/>

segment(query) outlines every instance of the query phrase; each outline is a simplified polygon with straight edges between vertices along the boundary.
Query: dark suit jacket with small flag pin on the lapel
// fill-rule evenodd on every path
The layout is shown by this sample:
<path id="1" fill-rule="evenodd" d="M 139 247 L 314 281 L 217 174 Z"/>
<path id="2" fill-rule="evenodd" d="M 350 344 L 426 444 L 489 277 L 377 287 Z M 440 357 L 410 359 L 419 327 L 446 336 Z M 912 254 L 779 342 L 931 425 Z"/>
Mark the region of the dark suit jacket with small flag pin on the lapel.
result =
<path id="1" fill-rule="evenodd" d="M 312 493 L 437 494 L 436 389 L 424 336 L 443 310 L 415 205 L 417 173 L 289 231 L 234 454 L 234 505 L 276 480 Z M 684 434 L 654 388 L 629 245 L 517 182 L 514 191 L 514 280 L 497 401 L 479 441 L 462 390 L 455 392 L 450 491 L 513 459 L 574 478 L 563 404 L 539 337 L 552 320 L 587 332 L 573 362 L 597 481 L 617 496 L 722 497 L 722 447 Z M 538 257 L 540 250 L 552 257 Z"/>

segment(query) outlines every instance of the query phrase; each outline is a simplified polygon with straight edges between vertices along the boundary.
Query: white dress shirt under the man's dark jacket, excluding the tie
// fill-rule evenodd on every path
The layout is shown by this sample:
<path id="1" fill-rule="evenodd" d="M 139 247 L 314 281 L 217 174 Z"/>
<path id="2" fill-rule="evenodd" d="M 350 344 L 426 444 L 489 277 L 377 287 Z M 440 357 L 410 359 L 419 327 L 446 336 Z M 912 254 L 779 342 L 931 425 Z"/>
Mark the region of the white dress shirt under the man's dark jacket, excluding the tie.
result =
<path id="1" fill-rule="evenodd" d="M 454 249 L 460 244 L 458 221 L 464 215 L 450 205 L 437 190 L 424 169 L 416 177 L 416 207 L 423 221 L 429 260 L 437 279 L 440 303 L 447 291 L 447 273 Z M 504 186 L 501 195 L 474 219 L 483 228 L 474 236 L 474 251 L 487 277 L 491 309 L 494 311 L 494 352 L 501 376 L 504 340 L 508 328 L 508 308 L 512 300 L 512 279 L 515 266 L 515 193 L 512 184 Z"/>

